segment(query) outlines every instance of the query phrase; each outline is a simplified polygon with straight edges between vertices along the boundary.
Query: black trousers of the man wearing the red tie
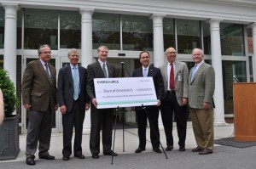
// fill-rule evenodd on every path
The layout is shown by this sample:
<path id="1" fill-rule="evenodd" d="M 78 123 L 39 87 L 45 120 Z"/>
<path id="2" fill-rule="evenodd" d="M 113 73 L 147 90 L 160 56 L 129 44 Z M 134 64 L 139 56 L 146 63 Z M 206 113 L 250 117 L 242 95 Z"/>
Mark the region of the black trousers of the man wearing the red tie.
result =
<path id="1" fill-rule="evenodd" d="M 161 101 L 160 111 L 162 116 L 163 125 L 166 133 L 166 144 L 167 146 L 173 146 L 172 136 L 172 121 L 173 112 L 176 115 L 177 123 L 177 136 L 178 144 L 180 147 L 185 146 L 186 133 L 187 133 L 187 106 L 180 106 L 177 103 L 175 93 L 168 92 L 166 97 Z"/>

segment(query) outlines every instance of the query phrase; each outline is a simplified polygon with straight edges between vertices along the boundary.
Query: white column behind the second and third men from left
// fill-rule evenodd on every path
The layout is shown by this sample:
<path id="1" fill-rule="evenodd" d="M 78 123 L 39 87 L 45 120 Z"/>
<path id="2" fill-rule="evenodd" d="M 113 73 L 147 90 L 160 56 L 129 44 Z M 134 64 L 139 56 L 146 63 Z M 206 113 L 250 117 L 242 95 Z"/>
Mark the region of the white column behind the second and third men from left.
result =
<path id="1" fill-rule="evenodd" d="M 92 14 L 94 10 L 80 8 L 82 14 L 81 64 L 85 68 L 92 63 Z"/>

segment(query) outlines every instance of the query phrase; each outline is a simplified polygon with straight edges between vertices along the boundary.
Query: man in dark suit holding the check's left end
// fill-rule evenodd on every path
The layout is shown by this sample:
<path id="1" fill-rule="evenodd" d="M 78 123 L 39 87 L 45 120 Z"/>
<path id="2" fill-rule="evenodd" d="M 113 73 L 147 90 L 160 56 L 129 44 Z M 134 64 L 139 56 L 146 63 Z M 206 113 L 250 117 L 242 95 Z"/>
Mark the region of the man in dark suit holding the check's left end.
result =
<path id="1" fill-rule="evenodd" d="M 103 154 L 117 156 L 111 150 L 113 109 L 97 109 L 94 88 L 94 78 L 108 78 L 115 76 L 115 68 L 107 63 L 108 48 L 101 46 L 97 49 L 98 60 L 87 67 L 87 93 L 90 98 L 90 152 L 92 158 L 98 159 L 100 153 L 100 132 L 102 129 Z"/>

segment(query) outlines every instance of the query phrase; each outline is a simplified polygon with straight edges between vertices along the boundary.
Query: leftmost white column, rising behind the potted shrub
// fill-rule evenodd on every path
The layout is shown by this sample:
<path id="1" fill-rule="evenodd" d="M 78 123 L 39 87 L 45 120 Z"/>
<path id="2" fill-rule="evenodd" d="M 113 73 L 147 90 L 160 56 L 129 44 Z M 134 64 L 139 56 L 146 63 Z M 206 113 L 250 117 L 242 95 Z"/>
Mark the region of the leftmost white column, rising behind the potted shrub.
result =
<path id="1" fill-rule="evenodd" d="M 3 8 L 5 9 L 3 68 L 8 70 L 9 77 L 16 87 L 17 10 L 20 7 L 6 3 L 3 4 Z"/>

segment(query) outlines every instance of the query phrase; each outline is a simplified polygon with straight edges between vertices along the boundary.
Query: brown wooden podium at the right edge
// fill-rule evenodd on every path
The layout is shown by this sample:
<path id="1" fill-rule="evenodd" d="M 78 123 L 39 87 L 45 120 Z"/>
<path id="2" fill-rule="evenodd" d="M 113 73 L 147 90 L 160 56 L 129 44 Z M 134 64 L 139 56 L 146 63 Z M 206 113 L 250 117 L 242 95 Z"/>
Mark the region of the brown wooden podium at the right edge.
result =
<path id="1" fill-rule="evenodd" d="M 235 140 L 256 141 L 256 83 L 234 83 Z"/>

